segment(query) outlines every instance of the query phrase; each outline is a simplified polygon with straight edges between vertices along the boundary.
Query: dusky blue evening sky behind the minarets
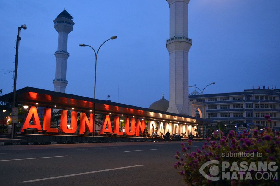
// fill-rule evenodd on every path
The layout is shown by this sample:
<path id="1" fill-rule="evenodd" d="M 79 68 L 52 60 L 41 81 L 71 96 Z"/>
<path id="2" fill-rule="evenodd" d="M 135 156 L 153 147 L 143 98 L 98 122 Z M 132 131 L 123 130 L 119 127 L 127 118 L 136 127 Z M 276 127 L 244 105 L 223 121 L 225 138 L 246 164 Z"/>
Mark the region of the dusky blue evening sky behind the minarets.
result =
<path id="1" fill-rule="evenodd" d="M 54 90 L 58 33 L 53 20 L 64 3 L 75 23 L 68 35 L 66 93 L 93 97 L 94 53 L 96 98 L 149 107 L 169 100 L 169 6 L 164 0 L 0 0 L 0 88 L 12 92 L 15 39 L 21 31 L 17 89 Z M 191 0 L 189 3 L 189 85 L 204 94 L 239 92 L 255 85 L 279 84 L 279 0 Z M 3 74 L 7 73 L 7 74 Z M 194 89 L 190 89 L 192 92 Z"/>

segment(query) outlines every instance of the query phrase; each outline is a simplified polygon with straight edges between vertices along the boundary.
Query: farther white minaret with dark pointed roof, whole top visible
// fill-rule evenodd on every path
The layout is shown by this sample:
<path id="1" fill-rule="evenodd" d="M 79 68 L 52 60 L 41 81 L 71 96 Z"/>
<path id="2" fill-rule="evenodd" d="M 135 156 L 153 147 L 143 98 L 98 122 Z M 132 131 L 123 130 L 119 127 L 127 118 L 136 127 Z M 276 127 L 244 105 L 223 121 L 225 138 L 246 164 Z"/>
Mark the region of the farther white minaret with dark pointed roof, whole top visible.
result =
<path id="1" fill-rule="evenodd" d="M 56 57 L 55 79 L 53 80 L 54 91 L 65 93 L 68 84 L 66 80 L 66 68 L 69 52 L 67 52 L 68 33 L 73 31 L 75 24 L 71 19 L 73 17 L 64 10 L 54 20 L 54 28 L 58 32 L 57 51 L 54 52 Z"/>

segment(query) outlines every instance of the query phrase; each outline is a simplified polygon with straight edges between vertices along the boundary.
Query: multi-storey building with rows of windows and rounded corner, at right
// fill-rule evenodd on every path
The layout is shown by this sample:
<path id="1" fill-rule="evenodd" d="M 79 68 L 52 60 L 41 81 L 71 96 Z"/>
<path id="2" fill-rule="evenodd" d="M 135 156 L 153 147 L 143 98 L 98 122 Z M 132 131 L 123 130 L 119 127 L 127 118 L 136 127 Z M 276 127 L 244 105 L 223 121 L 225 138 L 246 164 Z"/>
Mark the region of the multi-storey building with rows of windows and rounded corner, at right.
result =
<path id="1" fill-rule="evenodd" d="M 195 117 L 201 111 L 205 118 L 226 124 L 255 123 L 269 126 L 265 115 L 270 115 L 271 126 L 280 127 L 280 89 L 249 89 L 243 92 L 189 95 Z M 202 107 L 203 102 L 203 107 Z"/>

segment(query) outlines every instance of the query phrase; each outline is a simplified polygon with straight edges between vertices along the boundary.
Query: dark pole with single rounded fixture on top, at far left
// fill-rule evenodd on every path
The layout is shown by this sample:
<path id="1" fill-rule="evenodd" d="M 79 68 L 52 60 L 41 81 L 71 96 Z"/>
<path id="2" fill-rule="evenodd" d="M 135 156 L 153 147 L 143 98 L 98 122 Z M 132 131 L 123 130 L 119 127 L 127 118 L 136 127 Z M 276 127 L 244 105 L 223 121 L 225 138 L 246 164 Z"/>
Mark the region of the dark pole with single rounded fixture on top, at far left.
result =
<path id="1" fill-rule="evenodd" d="M 14 127 L 16 127 L 17 123 L 18 123 L 18 108 L 16 108 L 16 102 L 15 102 L 15 91 L 16 91 L 16 85 L 17 85 L 17 73 L 18 73 L 18 43 L 19 40 L 21 40 L 21 37 L 19 36 L 19 33 L 21 31 L 21 29 L 26 29 L 27 26 L 21 25 L 18 27 L 18 35 L 17 35 L 17 45 L 15 48 L 15 77 L 14 77 L 14 99 L 13 99 L 13 106 L 12 106 L 12 131 L 11 131 L 11 139 L 14 139 Z"/>

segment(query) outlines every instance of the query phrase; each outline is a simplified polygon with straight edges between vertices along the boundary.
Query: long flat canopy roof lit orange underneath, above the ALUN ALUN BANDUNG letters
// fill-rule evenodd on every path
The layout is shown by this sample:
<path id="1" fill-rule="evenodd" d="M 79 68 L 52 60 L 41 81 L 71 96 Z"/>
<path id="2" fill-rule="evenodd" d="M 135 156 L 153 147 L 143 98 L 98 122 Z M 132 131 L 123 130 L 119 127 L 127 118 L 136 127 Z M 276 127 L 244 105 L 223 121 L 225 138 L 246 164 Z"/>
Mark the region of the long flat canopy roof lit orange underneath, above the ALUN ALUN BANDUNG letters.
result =
<path id="1" fill-rule="evenodd" d="M 12 102 L 13 92 L 0 97 L 1 101 Z M 75 110 L 89 113 L 93 110 L 95 104 L 95 113 L 104 113 L 112 115 L 135 116 L 146 119 L 166 120 L 170 122 L 180 122 L 187 124 L 209 124 L 215 123 L 213 120 L 195 118 L 187 115 L 174 114 L 141 108 L 132 105 L 111 102 L 108 100 L 98 100 L 89 97 L 83 97 L 73 94 L 54 92 L 33 87 L 25 87 L 16 91 L 16 102 L 18 104 L 38 105 L 41 107 L 57 108 L 64 110 Z M 56 107 L 55 107 L 56 106 Z M 74 109 L 73 109 L 74 108 Z"/>

